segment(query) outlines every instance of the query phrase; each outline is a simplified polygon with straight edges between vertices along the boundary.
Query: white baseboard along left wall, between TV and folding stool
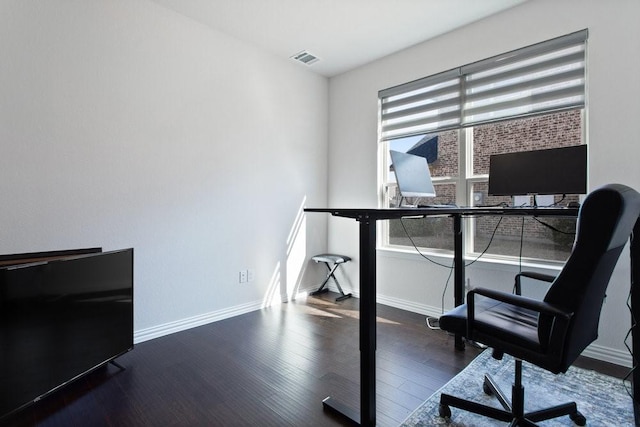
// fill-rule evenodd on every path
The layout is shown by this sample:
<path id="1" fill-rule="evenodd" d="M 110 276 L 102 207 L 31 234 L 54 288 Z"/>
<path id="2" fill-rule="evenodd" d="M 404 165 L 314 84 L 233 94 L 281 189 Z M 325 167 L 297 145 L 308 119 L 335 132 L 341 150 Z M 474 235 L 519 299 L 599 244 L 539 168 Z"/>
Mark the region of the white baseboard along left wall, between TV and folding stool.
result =
<path id="1" fill-rule="evenodd" d="M 263 308 L 262 301 L 251 302 L 247 304 L 237 305 L 235 307 L 229 307 L 222 310 L 212 311 L 210 313 L 199 314 L 197 316 L 188 317 L 185 319 L 176 320 L 174 322 L 165 323 L 158 326 L 152 326 L 150 328 L 140 329 L 134 331 L 133 342 L 139 344 L 144 341 L 148 341 L 154 338 L 160 338 L 165 335 L 173 334 L 176 332 L 185 331 L 187 329 L 195 328 L 197 326 L 206 325 L 208 323 L 217 322 L 219 320 L 228 319 L 241 314 L 246 314 L 255 310 Z"/>

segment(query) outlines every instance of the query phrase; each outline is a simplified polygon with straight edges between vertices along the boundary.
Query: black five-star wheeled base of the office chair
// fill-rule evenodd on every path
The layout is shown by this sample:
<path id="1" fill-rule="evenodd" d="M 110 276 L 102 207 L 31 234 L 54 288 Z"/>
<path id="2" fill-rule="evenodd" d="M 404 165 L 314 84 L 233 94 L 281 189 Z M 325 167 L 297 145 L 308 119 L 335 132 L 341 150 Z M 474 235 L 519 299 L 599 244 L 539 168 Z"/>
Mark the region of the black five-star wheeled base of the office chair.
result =
<path id="1" fill-rule="evenodd" d="M 578 408 L 575 402 L 565 403 L 562 405 L 553 406 L 551 408 L 541 409 L 539 411 L 524 412 L 524 387 L 522 384 L 514 384 L 512 389 L 513 404 L 505 397 L 505 394 L 496 385 L 495 381 L 489 376 L 485 375 L 484 383 L 482 386 L 486 394 L 494 395 L 502 405 L 504 409 L 494 408 L 492 406 L 482 405 L 480 403 L 472 402 L 470 400 L 464 400 L 459 397 L 451 396 L 448 394 L 440 395 L 440 407 L 439 414 L 443 418 L 451 417 L 451 409 L 455 408 L 463 409 L 465 411 L 473 412 L 474 414 L 482 415 L 492 418 L 494 420 L 500 420 L 504 422 L 510 422 L 510 426 L 536 426 L 536 422 L 549 420 L 552 418 L 569 415 L 571 420 L 579 425 L 584 426 L 587 424 L 586 418 L 578 412 Z"/>

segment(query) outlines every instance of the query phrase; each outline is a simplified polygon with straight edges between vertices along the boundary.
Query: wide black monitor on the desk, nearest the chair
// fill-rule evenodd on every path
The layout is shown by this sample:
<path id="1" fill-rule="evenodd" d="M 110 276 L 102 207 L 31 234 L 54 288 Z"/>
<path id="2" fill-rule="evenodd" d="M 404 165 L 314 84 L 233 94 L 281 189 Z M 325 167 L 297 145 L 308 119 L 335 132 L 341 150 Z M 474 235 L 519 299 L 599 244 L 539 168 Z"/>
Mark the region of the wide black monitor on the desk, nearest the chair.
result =
<path id="1" fill-rule="evenodd" d="M 585 194 L 587 146 L 492 155 L 489 195 Z"/>

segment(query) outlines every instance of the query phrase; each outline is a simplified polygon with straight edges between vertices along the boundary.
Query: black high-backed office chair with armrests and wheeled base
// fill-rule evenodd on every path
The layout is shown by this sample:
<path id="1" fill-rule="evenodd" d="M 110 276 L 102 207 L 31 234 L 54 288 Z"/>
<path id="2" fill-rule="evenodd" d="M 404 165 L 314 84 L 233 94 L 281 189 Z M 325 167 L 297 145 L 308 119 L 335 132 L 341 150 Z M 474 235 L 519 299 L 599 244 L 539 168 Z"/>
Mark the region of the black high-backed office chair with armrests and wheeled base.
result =
<path id="1" fill-rule="evenodd" d="M 483 384 L 504 410 L 443 393 L 440 416 L 451 417 L 453 406 L 512 426 L 535 426 L 563 415 L 586 424 L 575 402 L 525 413 L 522 361 L 554 374 L 566 372 L 597 338 L 607 285 L 639 215 L 640 194 L 629 187 L 610 184 L 591 192 L 580 208 L 571 255 L 542 301 L 477 288 L 469 291 L 466 304 L 440 317 L 440 328 L 492 347 L 496 359 L 503 353 L 516 359 L 511 402 L 490 376 Z"/>

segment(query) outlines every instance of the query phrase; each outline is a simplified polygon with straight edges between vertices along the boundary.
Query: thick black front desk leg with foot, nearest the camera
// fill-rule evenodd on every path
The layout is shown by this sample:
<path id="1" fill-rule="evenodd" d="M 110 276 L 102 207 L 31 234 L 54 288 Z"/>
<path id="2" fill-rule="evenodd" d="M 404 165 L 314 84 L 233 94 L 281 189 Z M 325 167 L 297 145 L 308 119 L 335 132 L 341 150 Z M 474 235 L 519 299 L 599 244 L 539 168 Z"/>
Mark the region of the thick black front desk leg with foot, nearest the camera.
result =
<path id="1" fill-rule="evenodd" d="M 360 219 L 360 416 L 327 397 L 322 403 L 355 424 L 376 425 L 376 222 Z"/>

